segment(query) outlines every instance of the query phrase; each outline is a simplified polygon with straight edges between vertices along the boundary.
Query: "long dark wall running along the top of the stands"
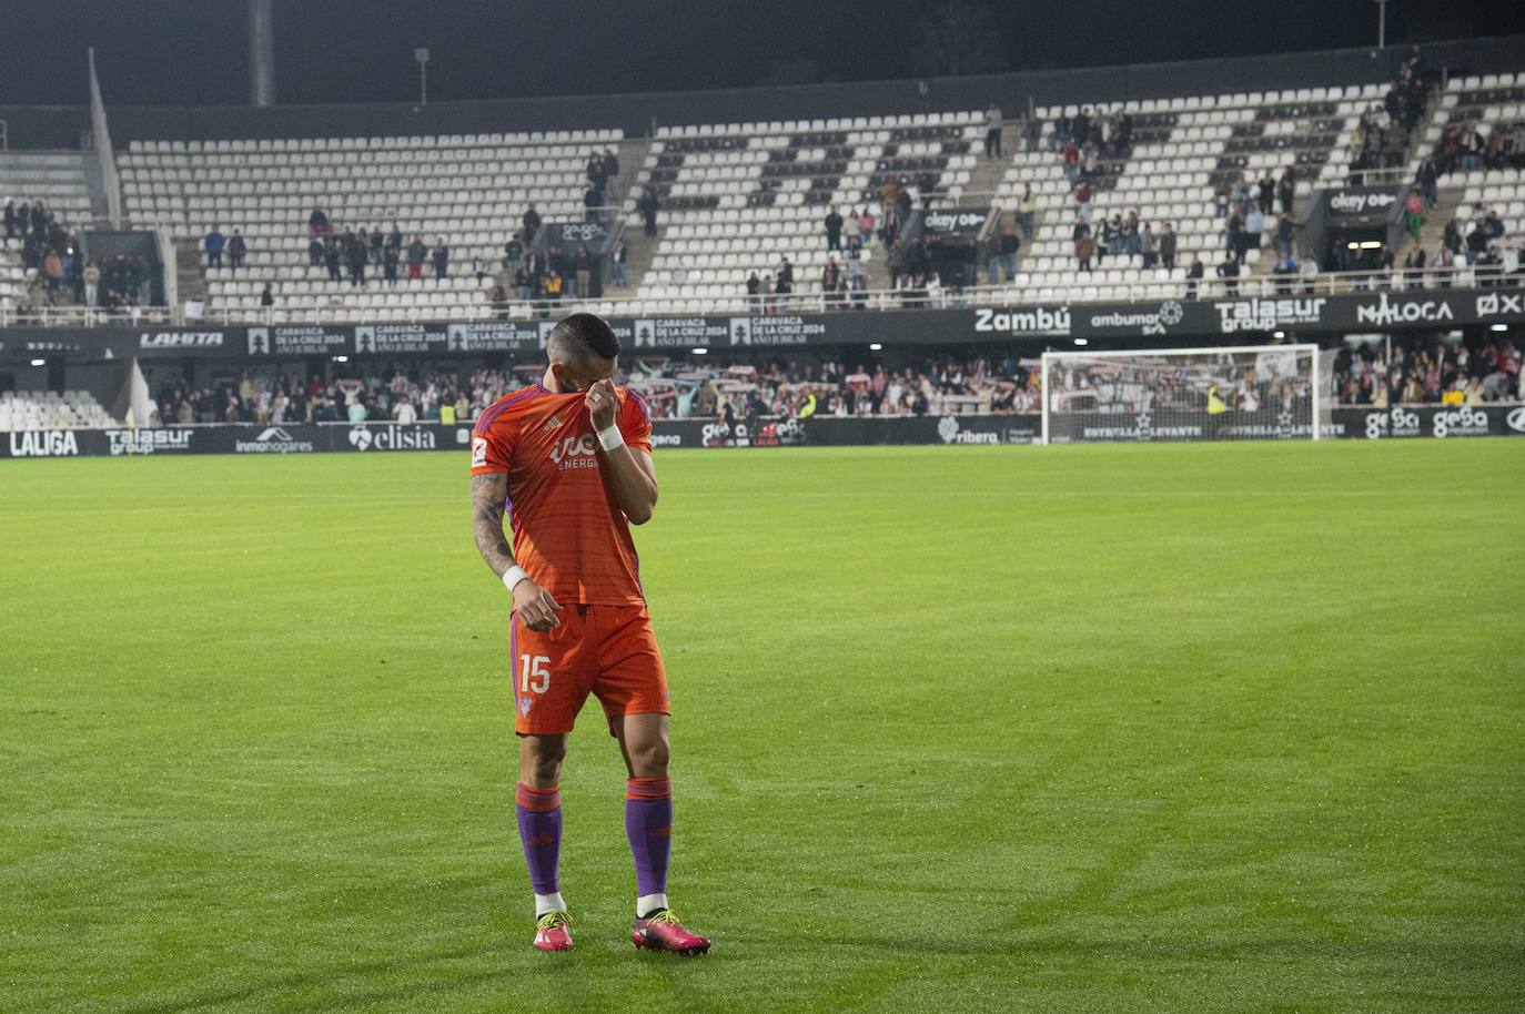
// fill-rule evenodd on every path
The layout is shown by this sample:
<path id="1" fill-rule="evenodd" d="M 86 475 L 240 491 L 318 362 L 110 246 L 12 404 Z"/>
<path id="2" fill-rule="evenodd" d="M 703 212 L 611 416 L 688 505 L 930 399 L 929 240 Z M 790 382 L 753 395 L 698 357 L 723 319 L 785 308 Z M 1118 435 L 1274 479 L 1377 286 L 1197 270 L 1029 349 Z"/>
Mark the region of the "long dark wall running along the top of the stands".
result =
<path id="1" fill-rule="evenodd" d="M 1264 91 L 1365 84 L 1391 78 L 1406 47 L 1194 59 L 1130 67 L 1034 70 L 927 81 L 868 81 L 776 88 L 720 88 L 602 96 L 558 96 L 358 105 L 110 107 L 117 145 L 131 140 L 480 134 L 619 127 L 647 136 L 656 125 L 878 116 L 984 108 L 1008 116 L 1035 105 L 1154 99 L 1177 95 Z M 1430 69 L 1449 73 L 1525 70 L 1525 35 L 1429 43 Z M 104 84 L 110 101 L 110 81 Z M 0 107 L 12 148 L 75 148 L 88 128 L 87 107 Z"/>

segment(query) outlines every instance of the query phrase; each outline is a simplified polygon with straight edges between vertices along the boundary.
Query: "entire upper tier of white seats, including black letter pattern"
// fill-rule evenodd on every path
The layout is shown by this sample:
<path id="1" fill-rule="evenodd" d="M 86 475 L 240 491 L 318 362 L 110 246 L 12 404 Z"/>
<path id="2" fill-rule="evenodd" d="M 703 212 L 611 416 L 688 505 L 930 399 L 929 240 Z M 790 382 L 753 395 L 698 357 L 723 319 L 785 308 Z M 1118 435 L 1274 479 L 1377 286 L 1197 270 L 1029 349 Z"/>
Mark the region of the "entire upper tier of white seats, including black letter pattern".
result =
<path id="1" fill-rule="evenodd" d="M 907 271 L 895 249 L 886 245 L 886 226 L 906 224 L 895 221 L 895 188 L 904 188 L 910 207 L 993 204 L 1010 224 L 1017 221 L 1026 188 L 1032 192 L 1035 230 L 1031 238 L 1023 236 L 1016 276 L 996 284 L 987 284 L 984 271 L 974 284 L 944 276 L 942 291 L 927 291 L 920 305 L 1220 294 L 1228 282 L 1215 281 L 1214 274 L 1225 258 L 1226 227 L 1234 221 L 1229 198 L 1240 207 L 1264 209 L 1264 201 L 1257 200 L 1261 181 L 1286 178 L 1296 201 L 1293 217 L 1301 217 L 1312 191 L 1345 185 L 1354 172 L 1365 171 L 1360 160 L 1362 139 L 1369 137 L 1366 117 L 1386 104 L 1392 88 L 1394 82 L 1382 81 L 1043 107 L 1034 110 L 1031 120 L 1008 122 L 1017 143 L 1005 162 L 996 163 L 978 154 L 985 120 L 974 110 L 659 128 L 651 142 L 630 142 L 636 159 L 627 159 L 630 149 L 621 149 L 625 171 L 639 172 L 633 186 L 619 188 L 631 278 L 628 287 L 605 290 L 592 308 L 633 314 L 830 308 L 833 302 L 820 299 L 820 290 L 822 268 L 831 258 L 854 293 L 834 305 L 913 303 L 883 291 L 897 276 L 901 285 L 932 288 L 926 285 L 924 262 L 920 273 Z M 1453 134 L 1466 134 L 1462 128 L 1469 124 L 1481 124 L 1479 134 L 1485 136 L 1478 166 L 1466 160 L 1470 171 L 1464 172 L 1459 156 L 1452 159 L 1455 165 L 1444 166 L 1446 194 L 1438 210 L 1427 209 L 1418 245 L 1438 250 L 1444 223 L 1478 215 L 1479 204 L 1496 206 L 1513 233 L 1525 207 L 1519 186 L 1525 87 L 1516 75 L 1456 78 L 1440 91 L 1420 88 L 1409 99 L 1427 127 L 1421 125 L 1423 137 L 1412 137 L 1405 148 L 1401 166 L 1389 165 L 1385 156 L 1383 172 L 1394 180 L 1418 171 L 1426 148 L 1446 157 Z M 1081 114 L 1110 128 L 1125 122 L 1127 137 L 1124 143 L 1109 139 L 1084 159 L 1072 180 L 1075 174 L 1066 166 L 1061 140 Z M 543 276 L 528 285 L 515 278 L 518 264 L 505 261 L 505 244 L 531 204 L 547 223 L 581 220 L 589 148 L 621 140 L 621 131 L 154 140 L 133 142 L 119 162 L 130 217 L 136 224 L 172 233 L 181 247 L 181 297 L 197 299 L 204 278 L 207 317 L 467 320 L 551 311 L 540 302 Z M 971 188 L 976 178 L 979 191 Z M 1077 259 L 1080 178 L 1092 194 L 1084 212 L 1093 239 L 1110 238 L 1104 223 L 1116 223 L 1130 233 L 1136 223 L 1139 232 L 1122 250 L 1109 242 L 1106 256 L 1098 252 L 1092 261 L 1092 270 Z M 70 186 L 72 200 L 81 201 L 78 178 Z M 659 227 L 654 236 L 642 238 L 642 212 L 651 200 L 660 209 Z M 906 204 L 901 201 L 898 207 Z M 1246 249 L 1243 278 L 1234 282 L 1237 294 L 1278 291 L 1278 279 L 1269 268 L 1275 259 L 1276 220 L 1287 206 L 1279 192 L 1272 204 L 1260 242 Z M 88 198 L 76 206 L 87 207 Z M 416 238 L 430 252 L 444 239 L 451 270 L 435 278 L 425 265 L 422 278 L 409 279 L 404 262 L 400 281 L 390 285 L 381 278 L 381 265 L 368 259 L 363 285 L 343 276 L 334 279 L 329 267 L 308 258 L 307 221 L 314 207 L 326 212 L 339 230 L 390 233 L 396 227 L 406 236 L 404 244 Z M 843 250 L 828 252 L 824 220 L 833 209 L 849 221 L 857 210 L 874 217 L 877 229 L 866 235 L 862 250 L 849 252 L 848 229 Z M 1170 241 L 1167 223 L 1173 232 Z M 1148 239 L 1142 238 L 1145 226 Z M 241 230 L 247 242 L 244 270 L 235 271 L 226 261 L 206 268 L 198 262 L 188 284 L 186 249 L 200 250 L 214 227 L 224 236 Z M 1464 236 L 1467 230 L 1461 232 Z M 901 241 L 913 244 L 915 236 L 903 233 Z M 1170 262 L 1161 256 L 1167 242 L 1174 244 Z M 1403 259 L 1405 249 L 1392 252 L 1394 261 Z M 1337 267 L 1324 253 L 1298 250 L 1304 282 L 1310 273 Z M 1444 262 L 1452 264 L 1456 253 Z M 1505 245 L 1501 262 L 1510 256 Z M 790 293 L 778 288 L 785 258 L 793 274 Z M 467 270 L 473 259 L 482 261 L 483 273 Z M 1194 259 L 1202 262 L 1205 276 L 1197 285 L 1188 281 Z M 1430 255 L 1432 271 L 1440 262 Z M 756 294 L 764 299 L 749 299 L 753 273 L 759 276 Z M 1383 284 L 1408 285 L 1412 279 L 1429 281 L 1411 271 Z M 268 300 L 265 285 L 270 285 Z M 15 308 L 20 290 L 14 261 L 0 255 L 0 299 L 11 300 L 6 308 Z M 868 293 L 862 302 L 859 291 Z"/>

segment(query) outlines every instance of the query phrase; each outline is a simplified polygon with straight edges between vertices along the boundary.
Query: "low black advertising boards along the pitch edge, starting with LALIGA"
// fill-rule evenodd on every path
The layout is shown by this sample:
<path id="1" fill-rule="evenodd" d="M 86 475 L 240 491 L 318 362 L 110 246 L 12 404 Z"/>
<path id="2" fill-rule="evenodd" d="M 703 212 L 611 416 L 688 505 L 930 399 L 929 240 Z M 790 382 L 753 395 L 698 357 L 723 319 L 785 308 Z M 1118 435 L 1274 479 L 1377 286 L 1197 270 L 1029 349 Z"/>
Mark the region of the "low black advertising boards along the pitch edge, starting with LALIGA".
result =
<path id="1" fill-rule="evenodd" d="M 1109 419 L 1109 439 L 1157 442 L 1130 416 Z M 1218 436 L 1234 436 L 1226 416 Z M 656 419 L 653 445 L 674 447 L 872 447 L 884 444 L 1034 444 L 1042 418 L 1025 415 L 944 415 L 888 418 Z M 1525 436 L 1525 406 L 1397 406 L 1334 409 L 1331 438 L 1394 439 Z M 1305 439 L 1305 433 L 1246 433 L 1254 439 Z M 1182 435 L 1174 439 L 1205 439 Z M 0 457 L 120 457 L 133 454 L 319 454 L 380 451 L 459 451 L 471 445 L 471 424 L 366 422 L 360 425 L 171 425 L 151 430 L 17 430 L 0 438 Z"/>

